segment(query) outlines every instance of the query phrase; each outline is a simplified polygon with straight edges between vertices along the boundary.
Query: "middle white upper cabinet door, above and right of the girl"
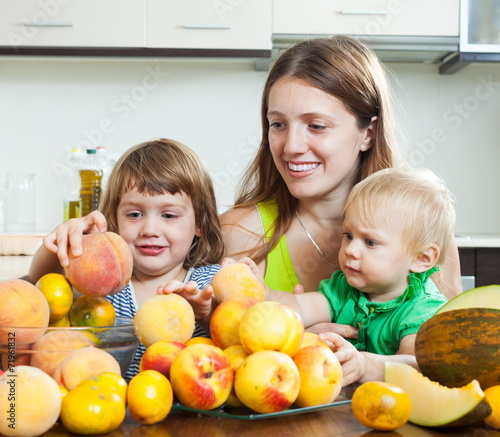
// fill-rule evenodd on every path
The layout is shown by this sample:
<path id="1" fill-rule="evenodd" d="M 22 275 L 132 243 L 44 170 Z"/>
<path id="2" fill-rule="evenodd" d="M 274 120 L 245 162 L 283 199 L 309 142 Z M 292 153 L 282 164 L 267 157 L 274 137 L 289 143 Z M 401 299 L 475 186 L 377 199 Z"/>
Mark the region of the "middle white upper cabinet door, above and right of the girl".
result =
<path id="1" fill-rule="evenodd" d="M 147 47 L 269 50 L 271 0 L 147 0 Z"/>

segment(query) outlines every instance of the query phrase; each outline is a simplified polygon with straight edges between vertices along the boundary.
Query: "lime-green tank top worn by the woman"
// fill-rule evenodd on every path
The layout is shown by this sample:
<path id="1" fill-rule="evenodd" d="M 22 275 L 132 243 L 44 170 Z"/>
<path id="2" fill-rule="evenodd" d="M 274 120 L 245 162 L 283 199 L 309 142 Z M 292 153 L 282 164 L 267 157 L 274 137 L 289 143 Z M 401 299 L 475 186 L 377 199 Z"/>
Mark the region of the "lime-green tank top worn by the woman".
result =
<path id="1" fill-rule="evenodd" d="M 259 202 L 257 209 L 262 220 L 266 241 L 269 241 L 274 232 L 274 224 L 278 217 L 276 199 L 273 197 L 269 200 Z M 266 275 L 264 277 L 266 285 L 274 290 L 284 290 L 292 293 L 299 280 L 293 268 L 284 235 L 280 238 L 276 247 L 267 255 L 266 265 Z"/>

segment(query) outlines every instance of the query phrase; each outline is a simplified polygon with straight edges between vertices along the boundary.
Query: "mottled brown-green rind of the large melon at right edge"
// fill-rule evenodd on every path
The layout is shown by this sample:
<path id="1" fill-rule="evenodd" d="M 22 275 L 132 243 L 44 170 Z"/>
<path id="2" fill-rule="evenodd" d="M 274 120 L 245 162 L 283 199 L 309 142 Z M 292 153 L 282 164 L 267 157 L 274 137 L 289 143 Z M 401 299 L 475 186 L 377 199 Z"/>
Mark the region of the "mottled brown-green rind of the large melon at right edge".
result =
<path id="1" fill-rule="evenodd" d="M 423 375 L 447 387 L 476 379 L 500 384 L 500 309 L 463 308 L 436 314 L 417 332 L 415 357 Z"/>

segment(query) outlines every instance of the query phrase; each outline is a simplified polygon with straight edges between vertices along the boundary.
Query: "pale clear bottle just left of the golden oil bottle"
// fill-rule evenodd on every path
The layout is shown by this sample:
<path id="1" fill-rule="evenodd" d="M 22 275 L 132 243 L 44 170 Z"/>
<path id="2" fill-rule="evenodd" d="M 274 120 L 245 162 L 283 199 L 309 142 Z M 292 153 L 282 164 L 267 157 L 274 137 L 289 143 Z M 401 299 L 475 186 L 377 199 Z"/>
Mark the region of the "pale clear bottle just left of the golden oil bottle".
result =
<path id="1" fill-rule="evenodd" d="M 71 149 L 66 155 L 67 170 L 64 171 L 63 202 L 64 220 L 81 217 L 80 200 L 80 169 L 83 166 L 85 154 L 81 149 Z"/>

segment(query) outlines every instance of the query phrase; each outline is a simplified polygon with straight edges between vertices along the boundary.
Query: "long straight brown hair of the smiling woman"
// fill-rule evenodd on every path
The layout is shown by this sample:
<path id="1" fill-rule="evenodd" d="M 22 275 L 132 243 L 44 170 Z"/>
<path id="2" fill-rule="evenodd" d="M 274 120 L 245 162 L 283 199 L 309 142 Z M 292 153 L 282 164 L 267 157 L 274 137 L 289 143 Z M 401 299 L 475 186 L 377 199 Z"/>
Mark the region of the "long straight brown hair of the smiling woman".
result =
<path id="1" fill-rule="evenodd" d="M 377 116 L 371 147 L 361 153 L 355 182 L 402 161 L 395 140 L 391 93 L 386 72 L 375 53 L 362 41 L 334 36 L 303 41 L 285 51 L 269 72 L 261 106 L 262 139 L 240 184 L 235 207 L 253 205 L 275 196 L 278 218 L 270 240 L 251 256 L 263 260 L 288 229 L 298 200 L 293 197 L 274 164 L 269 147 L 267 112 L 271 87 L 282 78 L 301 79 L 341 100 L 360 129 Z"/>

